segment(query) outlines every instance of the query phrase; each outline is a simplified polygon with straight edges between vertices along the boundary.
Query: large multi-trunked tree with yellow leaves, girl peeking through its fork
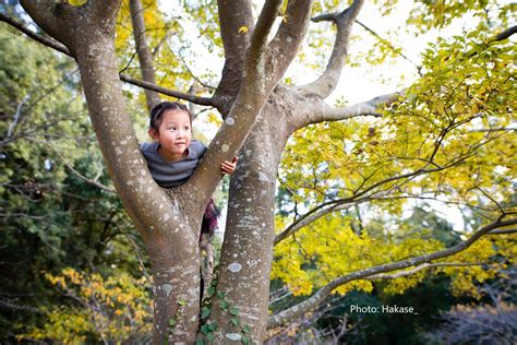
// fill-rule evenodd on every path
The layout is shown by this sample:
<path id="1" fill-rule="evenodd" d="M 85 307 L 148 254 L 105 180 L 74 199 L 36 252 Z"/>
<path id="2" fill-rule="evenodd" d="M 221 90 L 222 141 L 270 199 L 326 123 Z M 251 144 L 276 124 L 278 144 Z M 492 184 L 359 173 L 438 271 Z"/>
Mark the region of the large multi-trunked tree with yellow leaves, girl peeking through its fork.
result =
<path id="1" fill-rule="evenodd" d="M 483 260 L 490 260 L 495 252 L 490 250 L 493 246 L 482 236 L 516 223 L 510 217 L 515 212 L 515 200 L 512 200 L 512 189 L 508 188 L 510 178 L 501 172 L 512 171 L 515 167 L 505 159 L 507 156 L 490 155 L 512 143 L 512 130 L 507 127 L 513 114 L 510 99 L 515 91 L 510 86 L 514 76 L 512 67 L 506 68 L 505 63 L 512 56 L 513 48 L 507 44 L 507 37 L 514 29 L 495 36 L 510 25 L 507 21 L 510 7 L 491 8 L 494 11 L 484 12 L 482 17 L 489 24 L 483 23 L 484 26 L 472 31 L 472 37 L 479 39 L 481 36 L 481 39 L 459 37 L 431 47 L 422 67 L 419 67 L 422 79 L 407 88 L 402 98 L 398 99 L 400 94 L 394 94 L 354 106 L 338 104 L 330 107 L 324 99 L 337 86 L 348 55 L 351 27 L 362 1 L 353 1 L 348 9 L 338 9 L 340 12 L 335 14 L 314 17 L 314 22 L 329 21 L 335 25 L 335 46 L 321 76 L 315 82 L 298 86 L 292 85 L 292 80 L 286 79 L 285 84 L 277 82 L 298 52 L 310 3 L 290 1 L 287 9 L 281 9 L 279 2 L 266 2 L 255 26 L 250 3 L 220 1 L 218 13 L 226 62 L 216 91 L 209 98 L 164 92 L 214 106 L 225 122 L 193 178 L 184 187 L 166 194 L 145 169 L 117 82 L 112 48 L 117 3 L 87 2 L 81 7 L 51 1 L 22 3 L 47 33 L 67 47 L 45 41 L 72 55 L 80 66 L 100 148 L 115 187 L 141 231 L 153 264 L 155 342 L 167 335 L 170 319 L 175 320 L 173 338 L 192 341 L 195 337 L 199 298 L 195 229 L 203 207 L 192 200 L 209 198 L 218 182 L 217 162 L 239 148 L 252 126 L 253 130 L 240 151 L 239 170 L 230 183 L 217 294 L 212 297 L 213 308 L 209 314 L 204 313 L 207 320 L 203 320 L 201 326 L 201 333 L 208 340 L 248 341 L 250 332 L 253 340 L 263 338 L 274 242 L 280 243 L 275 276 L 281 277 L 298 294 L 309 294 L 313 288 L 317 292 L 299 305 L 270 317 L 269 326 L 289 322 L 315 308 L 336 289 L 340 293 L 351 288 L 368 290 L 371 283 L 364 278 L 408 276 L 422 273 L 430 266 L 456 270 L 453 269 L 458 266 L 456 258 L 447 259 L 447 262 L 436 260 L 461 252 L 476 242 L 481 247 L 472 247 L 471 254 L 479 258 L 482 253 Z M 477 10 L 477 5 L 422 4 L 412 12 L 410 20 L 420 27 L 445 25 L 454 16 Z M 285 12 L 281 12 L 277 36 L 268 43 L 267 33 L 280 10 Z M 211 11 L 207 15 L 213 13 Z M 320 3 L 314 11 L 316 14 L 333 12 L 334 4 Z M 429 12 L 434 14 L 432 20 L 428 19 Z M 2 19 L 11 23 L 3 15 Z M 214 21 L 202 23 L 213 24 Z M 386 41 L 382 47 L 393 50 L 393 45 Z M 450 55 L 450 51 L 459 52 Z M 122 76 L 122 80 L 160 91 L 130 76 Z M 384 105 L 388 108 L 381 111 L 378 106 Z M 109 116 L 106 116 L 107 111 Z M 258 112 L 261 116 L 256 118 Z M 382 115 L 383 118 L 375 121 L 375 126 L 369 120 L 351 119 L 371 115 Z M 346 123 L 312 124 L 342 119 L 349 120 Z M 294 133 L 305 127 L 305 131 Z M 118 131 L 113 132 L 113 128 Z M 279 234 L 275 239 L 275 181 L 280 154 L 292 133 L 292 142 L 299 152 L 287 147 L 281 178 L 292 197 L 290 202 L 306 211 L 302 215 L 294 213 L 291 217 L 278 218 Z M 333 145 L 329 145 L 330 141 Z M 127 165 L 125 162 L 134 164 Z M 479 174 L 474 181 L 466 181 L 476 169 Z M 501 188 L 493 183 L 494 180 Z M 470 237 L 445 249 L 436 240 L 421 238 L 404 227 L 397 234 L 398 238 L 393 237 L 387 243 L 381 236 L 351 234 L 349 217 L 340 213 L 358 205 L 361 210 L 382 207 L 397 216 L 404 200 L 430 198 L 429 194 L 435 199 L 446 195 L 448 203 L 470 206 L 484 221 Z M 448 197 L 453 199 L 448 200 Z M 366 203 L 372 206 L 365 207 Z M 288 225 L 288 222 L 292 224 Z M 175 231 L 180 227 L 184 230 Z M 322 234 L 325 231 L 328 234 Z M 311 245 L 316 240 L 314 234 L 318 235 L 318 246 Z M 392 237 L 389 228 L 381 235 Z M 330 242 L 329 247 L 322 242 L 330 236 L 340 241 Z M 297 241 L 297 237 L 301 237 L 301 241 Z M 505 248 L 512 246 L 510 239 L 508 241 L 502 240 L 497 250 L 505 252 Z M 336 259 L 336 248 L 344 247 L 344 243 L 354 251 L 346 253 L 345 265 L 334 264 L 330 259 Z M 371 248 L 383 250 L 368 260 L 361 258 Z M 464 270 L 466 265 L 477 263 L 469 261 L 467 253 L 461 255 L 458 260 L 461 260 L 459 266 Z M 301 257 L 312 258 L 315 266 L 312 270 L 302 267 L 303 260 L 298 259 Z M 411 266 L 413 269 L 409 271 L 382 274 Z M 490 272 L 472 272 L 471 277 L 496 274 L 494 270 Z M 421 277 L 406 279 L 394 288 L 413 286 L 418 276 Z M 460 279 L 458 285 L 471 286 L 468 285 L 470 281 Z"/>

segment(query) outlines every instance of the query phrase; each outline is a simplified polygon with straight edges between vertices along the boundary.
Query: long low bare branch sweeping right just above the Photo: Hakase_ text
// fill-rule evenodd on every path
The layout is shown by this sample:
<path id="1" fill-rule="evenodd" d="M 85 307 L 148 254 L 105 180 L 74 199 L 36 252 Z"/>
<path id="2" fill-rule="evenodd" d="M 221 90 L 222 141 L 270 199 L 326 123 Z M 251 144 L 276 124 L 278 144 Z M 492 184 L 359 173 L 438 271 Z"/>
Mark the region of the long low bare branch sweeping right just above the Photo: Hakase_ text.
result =
<path id="1" fill-rule="evenodd" d="M 447 258 L 450 255 L 454 255 L 458 252 L 461 252 L 472 246 L 481 236 L 490 233 L 493 229 L 504 227 L 504 226 L 509 226 L 509 225 L 515 225 L 517 224 L 517 218 L 513 218 L 509 221 L 503 221 L 503 218 L 506 215 L 503 214 L 500 216 L 495 222 L 492 224 L 489 224 L 481 229 L 479 229 L 477 233 L 474 233 L 469 239 L 444 250 L 440 250 L 433 253 L 398 261 L 398 262 L 393 262 L 393 263 L 386 263 L 377 266 L 373 266 L 370 269 L 365 270 L 360 270 L 352 272 L 350 274 L 340 276 L 330 283 L 328 283 L 326 286 L 322 287 L 317 293 L 315 293 L 312 297 L 309 299 L 290 307 L 284 311 L 280 311 L 272 317 L 269 317 L 268 322 L 267 322 L 267 328 L 272 329 L 275 326 L 280 326 L 290 320 L 296 319 L 298 316 L 303 314 L 312 309 L 314 309 L 317 305 L 320 305 L 325 298 L 332 294 L 334 289 L 337 287 L 345 285 L 346 283 L 357 281 L 357 279 L 364 279 L 366 277 L 370 277 L 375 274 L 384 273 L 384 272 L 389 272 L 389 271 L 395 271 L 395 270 L 401 270 L 414 265 L 419 265 L 425 262 L 431 262 L 437 259 L 442 258 Z"/>

